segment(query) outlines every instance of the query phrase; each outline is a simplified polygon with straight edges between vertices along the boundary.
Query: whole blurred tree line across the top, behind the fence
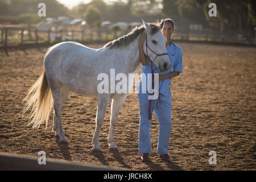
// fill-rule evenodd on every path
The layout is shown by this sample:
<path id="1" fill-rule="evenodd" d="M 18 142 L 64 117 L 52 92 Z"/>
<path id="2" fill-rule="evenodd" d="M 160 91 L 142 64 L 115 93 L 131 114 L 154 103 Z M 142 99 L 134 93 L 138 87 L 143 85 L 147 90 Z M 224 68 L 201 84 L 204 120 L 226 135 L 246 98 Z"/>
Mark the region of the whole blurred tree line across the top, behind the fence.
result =
<path id="1" fill-rule="evenodd" d="M 36 23 L 38 4 L 46 3 L 46 16 L 70 16 L 83 18 L 90 26 L 100 26 L 102 20 L 111 22 L 133 22 L 144 19 L 154 22 L 163 17 L 175 20 L 180 30 L 188 30 L 190 23 L 203 24 L 204 28 L 217 27 L 220 31 L 247 31 L 256 26 L 255 0 L 127 0 L 105 3 L 105 0 L 92 0 L 80 3 L 72 10 L 57 0 L 0 0 L 0 23 Z M 209 3 L 217 5 L 217 18 L 209 17 Z M 162 5 L 162 9 L 160 8 Z M 24 18 L 24 14 L 30 14 Z M 34 15 L 34 16 L 33 16 Z M 43 18 L 41 17 L 41 20 Z"/>

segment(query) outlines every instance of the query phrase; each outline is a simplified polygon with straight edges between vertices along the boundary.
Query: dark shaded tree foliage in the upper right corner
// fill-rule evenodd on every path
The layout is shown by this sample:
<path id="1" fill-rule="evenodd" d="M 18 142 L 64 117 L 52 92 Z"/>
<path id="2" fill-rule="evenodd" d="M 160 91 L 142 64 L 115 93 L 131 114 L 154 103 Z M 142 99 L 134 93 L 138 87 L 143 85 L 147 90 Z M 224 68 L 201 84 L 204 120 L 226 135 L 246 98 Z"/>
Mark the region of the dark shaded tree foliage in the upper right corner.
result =
<path id="1" fill-rule="evenodd" d="M 209 3 L 217 5 L 217 18 L 209 17 Z M 253 0 L 163 0 L 163 13 L 170 18 L 181 22 L 195 22 L 208 24 L 210 27 L 237 28 L 240 32 L 243 28 L 256 26 L 255 2 Z M 254 10 L 254 11 L 253 11 Z"/>

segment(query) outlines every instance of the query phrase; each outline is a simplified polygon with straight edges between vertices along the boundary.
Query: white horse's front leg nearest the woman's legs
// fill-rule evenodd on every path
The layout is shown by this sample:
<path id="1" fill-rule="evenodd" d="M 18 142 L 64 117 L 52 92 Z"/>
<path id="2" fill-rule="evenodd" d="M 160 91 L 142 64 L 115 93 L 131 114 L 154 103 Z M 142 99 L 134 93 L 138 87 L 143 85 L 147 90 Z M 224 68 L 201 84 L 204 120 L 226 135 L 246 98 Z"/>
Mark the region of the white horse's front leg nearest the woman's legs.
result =
<path id="1" fill-rule="evenodd" d="M 111 105 L 111 117 L 110 117 L 110 129 L 109 129 L 109 150 L 117 150 L 117 146 L 114 142 L 115 125 L 117 125 L 117 119 L 119 110 L 121 109 L 123 102 L 125 102 L 127 94 L 123 94 L 121 97 L 114 98 Z"/>

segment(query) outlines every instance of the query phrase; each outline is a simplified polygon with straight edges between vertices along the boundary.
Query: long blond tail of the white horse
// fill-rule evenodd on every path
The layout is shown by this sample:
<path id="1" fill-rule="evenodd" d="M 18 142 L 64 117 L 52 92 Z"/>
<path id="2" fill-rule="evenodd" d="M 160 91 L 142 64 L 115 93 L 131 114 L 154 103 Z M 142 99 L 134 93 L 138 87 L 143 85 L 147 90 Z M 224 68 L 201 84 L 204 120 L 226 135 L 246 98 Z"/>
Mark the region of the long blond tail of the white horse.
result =
<path id="1" fill-rule="evenodd" d="M 44 69 L 38 80 L 36 80 L 34 85 L 28 89 L 28 94 L 23 101 L 26 101 L 26 105 L 22 110 L 22 113 L 25 113 L 32 107 L 30 112 L 30 123 L 28 125 L 32 125 L 33 128 L 38 129 L 40 125 L 46 121 L 47 129 L 49 114 L 53 106 L 53 98 Z"/>

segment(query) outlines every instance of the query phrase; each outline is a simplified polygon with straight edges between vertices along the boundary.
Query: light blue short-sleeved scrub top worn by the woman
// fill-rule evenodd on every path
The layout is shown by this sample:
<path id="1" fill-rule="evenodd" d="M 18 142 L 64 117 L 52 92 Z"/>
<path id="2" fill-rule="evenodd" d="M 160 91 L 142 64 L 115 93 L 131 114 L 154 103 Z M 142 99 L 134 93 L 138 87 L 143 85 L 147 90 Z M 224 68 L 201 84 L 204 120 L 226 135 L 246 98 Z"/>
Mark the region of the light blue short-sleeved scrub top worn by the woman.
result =
<path id="1" fill-rule="evenodd" d="M 183 60 L 183 53 L 180 49 L 179 46 L 177 46 L 174 43 L 171 43 L 171 45 L 166 47 L 166 50 L 168 52 L 169 55 L 169 59 L 171 60 L 171 67 L 167 72 L 160 72 L 159 69 L 156 67 L 156 65 L 153 63 L 153 70 L 154 73 L 158 73 L 159 75 L 164 75 L 167 73 L 171 73 L 171 72 L 183 72 L 182 69 L 182 60 Z M 146 75 L 146 80 L 142 77 L 141 78 L 141 82 L 139 83 L 139 93 L 143 92 L 147 92 L 147 90 L 142 90 L 142 81 L 146 81 L 147 82 L 147 73 L 151 73 L 151 61 L 150 59 L 146 56 L 147 59 L 147 65 L 142 67 L 142 73 L 144 73 Z M 167 78 L 164 80 L 159 81 L 159 93 L 163 94 L 164 96 L 167 96 L 167 94 L 169 93 L 169 85 L 171 84 L 171 78 Z M 147 85 L 147 84 L 146 84 Z M 146 86 L 147 89 L 147 86 Z"/>

